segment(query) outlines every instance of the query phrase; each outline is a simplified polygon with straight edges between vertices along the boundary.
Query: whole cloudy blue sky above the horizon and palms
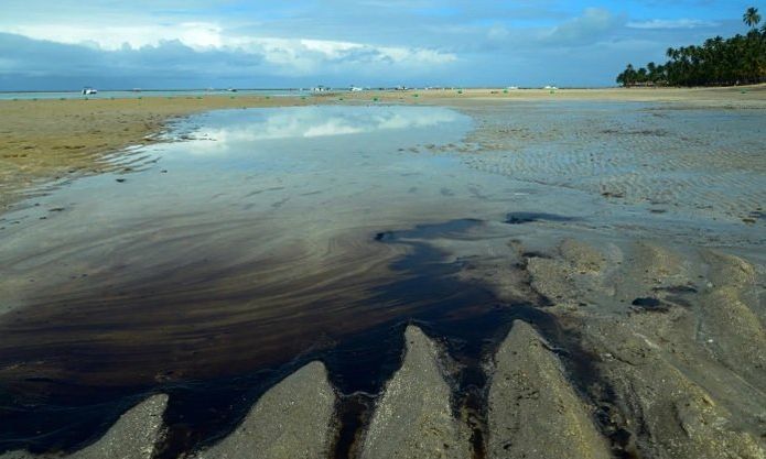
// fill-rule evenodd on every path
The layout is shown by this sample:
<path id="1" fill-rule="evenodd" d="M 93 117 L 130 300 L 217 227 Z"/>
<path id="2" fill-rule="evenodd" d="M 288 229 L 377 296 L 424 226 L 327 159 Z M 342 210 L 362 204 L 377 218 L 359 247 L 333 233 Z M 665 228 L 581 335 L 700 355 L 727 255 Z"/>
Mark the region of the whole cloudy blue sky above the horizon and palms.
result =
<path id="1" fill-rule="evenodd" d="M 0 90 L 612 86 L 758 1 L 0 0 Z"/>

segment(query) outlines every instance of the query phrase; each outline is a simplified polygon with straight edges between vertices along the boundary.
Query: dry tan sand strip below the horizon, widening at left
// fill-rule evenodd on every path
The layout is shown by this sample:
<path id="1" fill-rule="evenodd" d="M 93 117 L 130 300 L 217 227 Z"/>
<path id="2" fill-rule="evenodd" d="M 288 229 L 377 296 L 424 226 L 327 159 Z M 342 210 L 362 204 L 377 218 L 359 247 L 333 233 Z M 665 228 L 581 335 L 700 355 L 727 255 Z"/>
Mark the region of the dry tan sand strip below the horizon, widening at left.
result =
<path id="1" fill-rule="evenodd" d="M 0 100 L 0 212 L 54 181 L 115 171 L 109 156 L 157 136 L 176 119 L 246 108 L 327 103 L 407 103 L 472 108 L 533 101 L 668 102 L 680 107 L 766 109 L 766 85 L 735 88 L 464 89 L 328 92 L 311 96 L 147 97 Z M 44 190 L 40 190 L 44 193 Z"/>

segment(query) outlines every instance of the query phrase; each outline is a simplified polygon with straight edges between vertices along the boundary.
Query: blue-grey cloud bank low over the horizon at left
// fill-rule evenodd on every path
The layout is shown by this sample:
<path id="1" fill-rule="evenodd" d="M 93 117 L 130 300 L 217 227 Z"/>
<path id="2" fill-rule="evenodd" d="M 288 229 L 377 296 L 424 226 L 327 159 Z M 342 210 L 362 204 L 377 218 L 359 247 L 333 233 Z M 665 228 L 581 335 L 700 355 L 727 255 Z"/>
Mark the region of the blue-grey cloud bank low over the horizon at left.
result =
<path id="1" fill-rule="evenodd" d="M 271 46 L 269 52 L 290 54 L 294 50 Z M 347 85 L 359 77 L 382 85 L 390 78 L 382 76 L 381 69 L 386 68 L 399 69 L 401 77 L 440 72 L 433 65 L 419 68 L 416 65 L 418 51 L 413 53 L 410 57 L 395 58 L 386 50 L 368 46 L 331 55 L 306 50 L 301 51 L 299 62 L 281 65 L 267 62 L 266 55 L 257 51 L 201 51 L 177 40 L 163 41 L 155 46 L 104 51 L 0 33 L 0 90 L 77 89 L 86 85 L 101 88 L 288 87 L 325 80 Z M 309 69 L 300 68 L 304 62 Z"/>

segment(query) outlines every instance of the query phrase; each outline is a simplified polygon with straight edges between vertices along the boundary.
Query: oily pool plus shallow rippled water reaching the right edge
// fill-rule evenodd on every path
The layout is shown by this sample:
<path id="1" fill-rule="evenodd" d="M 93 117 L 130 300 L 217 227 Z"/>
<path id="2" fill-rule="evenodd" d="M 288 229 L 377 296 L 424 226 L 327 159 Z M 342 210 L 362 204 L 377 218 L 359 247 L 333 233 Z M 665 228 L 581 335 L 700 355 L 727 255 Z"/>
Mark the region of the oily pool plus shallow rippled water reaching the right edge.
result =
<path id="1" fill-rule="evenodd" d="M 174 458 L 311 359 L 341 393 L 376 393 L 408 321 L 476 370 L 515 317 L 546 314 L 461 281 L 450 241 L 498 262 L 547 229 L 759 247 L 762 222 L 734 217 L 763 175 L 718 193 L 699 159 L 759 165 L 732 133 L 760 118 L 648 109 L 216 111 L 116 155 L 118 173 L 46 185 L 0 216 L 0 451 L 76 449 L 163 392 Z M 684 131 L 710 119 L 726 135 Z"/>

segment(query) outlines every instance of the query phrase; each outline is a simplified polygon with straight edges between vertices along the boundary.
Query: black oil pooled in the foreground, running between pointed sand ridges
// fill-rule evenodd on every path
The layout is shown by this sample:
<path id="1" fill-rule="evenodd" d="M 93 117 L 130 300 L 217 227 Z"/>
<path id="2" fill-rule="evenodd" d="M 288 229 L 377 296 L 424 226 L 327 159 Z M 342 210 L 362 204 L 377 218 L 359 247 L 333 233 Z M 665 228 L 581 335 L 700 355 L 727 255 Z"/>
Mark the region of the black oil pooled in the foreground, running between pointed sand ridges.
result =
<path id="1" fill-rule="evenodd" d="M 557 349 L 565 350 L 562 360 L 583 394 L 590 393 L 589 387 L 597 382 L 597 376 L 592 356 L 582 352 L 576 340 L 540 309 L 547 306 L 547 298 L 538 295 L 532 298 L 536 303 L 500 303 L 485 287 L 461 282 L 456 274 L 462 263 L 444 262 L 445 254 L 424 242 L 431 238 L 468 238 L 467 233 L 481 225 L 476 220 L 455 220 L 371 237 L 377 243 L 408 247 L 407 254 L 390 265 L 398 275 L 378 285 L 370 280 L 373 286 L 364 298 L 348 305 L 354 314 L 334 320 L 359 320 L 367 316 L 375 316 L 375 320 L 350 328 L 354 331 L 328 321 L 333 326 L 326 331 L 317 328 L 320 332 L 311 340 L 289 347 L 290 352 L 277 359 L 253 361 L 249 371 L 204 379 L 174 379 L 171 374 L 168 381 L 158 384 L 114 389 L 67 385 L 55 379 L 15 382 L 12 391 L 0 393 L 0 415 L 10 415 L 14 426 L 12 431 L 0 431 L 0 452 L 21 447 L 33 451 L 76 450 L 104 434 L 140 397 L 164 392 L 170 395 L 164 416 L 168 435 L 157 459 L 175 459 L 228 435 L 268 389 L 304 363 L 320 359 L 341 394 L 333 456 L 352 458 L 358 453 L 376 397 L 401 365 L 404 327 L 414 323 L 442 342 L 450 359 L 455 361 L 456 370 L 451 376 L 453 412 L 471 427 L 473 456 L 484 458 L 488 395 L 484 368 L 515 319 L 535 325 Z M 304 307 L 326 308 L 331 315 L 335 310 L 332 304 Z M 302 324 L 301 320 L 294 326 L 302 327 Z M 236 334 L 237 328 L 233 331 Z M 284 339 L 294 336 L 288 334 Z M 233 335 L 229 339 L 237 337 Z M 74 425 L 73 417 L 78 419 Z M 45 434 L 39 435 L 40 431 Z M 613 434 L 613 438 L 619 436 L 619 431 Z"/>

